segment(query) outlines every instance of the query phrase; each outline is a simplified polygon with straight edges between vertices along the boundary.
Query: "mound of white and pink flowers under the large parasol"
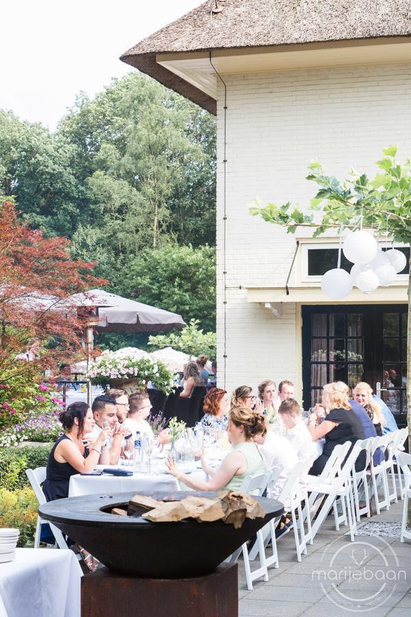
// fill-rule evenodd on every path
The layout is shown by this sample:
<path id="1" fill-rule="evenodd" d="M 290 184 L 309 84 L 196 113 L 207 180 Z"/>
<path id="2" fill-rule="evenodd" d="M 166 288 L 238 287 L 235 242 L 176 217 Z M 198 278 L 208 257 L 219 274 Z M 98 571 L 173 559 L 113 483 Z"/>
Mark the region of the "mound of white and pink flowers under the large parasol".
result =
<path id="1" fill-rule="evenodd" d="M 133 380 L 138 389 L 145 389 L 149 382 L 155 388 L 169 394 L 173 388 L 173 374 L 166 365 L 150 358 L 136 356 L 118 356 L 115 352 L 105 351 L 90 365 L 87 377 L 92 383 L 108 385 L 119 380 Z"/>

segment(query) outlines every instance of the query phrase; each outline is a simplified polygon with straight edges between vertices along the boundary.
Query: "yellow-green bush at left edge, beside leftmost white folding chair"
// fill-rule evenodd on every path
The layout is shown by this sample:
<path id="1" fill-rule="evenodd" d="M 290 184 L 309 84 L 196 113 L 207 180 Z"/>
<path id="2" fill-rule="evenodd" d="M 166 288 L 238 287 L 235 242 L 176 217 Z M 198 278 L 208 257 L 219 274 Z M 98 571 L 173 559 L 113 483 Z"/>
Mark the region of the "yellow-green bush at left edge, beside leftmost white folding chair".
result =
<path id="1" fill-rule="evenodd" d="M 31 488 L 0 489 L 0 527 L 20 529 L 17 546 L 33 546 L 38 501 Z"/>

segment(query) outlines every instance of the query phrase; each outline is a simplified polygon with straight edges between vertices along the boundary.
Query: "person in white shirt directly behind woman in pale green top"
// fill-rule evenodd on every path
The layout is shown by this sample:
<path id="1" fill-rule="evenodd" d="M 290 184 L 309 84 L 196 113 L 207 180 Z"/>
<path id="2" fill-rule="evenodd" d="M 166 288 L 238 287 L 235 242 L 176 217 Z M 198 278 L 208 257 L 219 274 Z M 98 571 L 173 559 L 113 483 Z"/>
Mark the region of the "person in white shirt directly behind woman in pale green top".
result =
<path id="1" fill-rule="evenodd" d="M 254 441 L 260 446 L 267 469 L 278 467 L 278 465 L 282 465 L 284 468 L 275 483 L 267 487 L 269 496 L 272 499 L 277 499 L 288 480 L 290 472 L 297 465 L 297 452 L 286 437 L 282 437 L 282 435 L 273 431 L 267 431 L 265 435 L 262 433 L 256 435 Z"/>

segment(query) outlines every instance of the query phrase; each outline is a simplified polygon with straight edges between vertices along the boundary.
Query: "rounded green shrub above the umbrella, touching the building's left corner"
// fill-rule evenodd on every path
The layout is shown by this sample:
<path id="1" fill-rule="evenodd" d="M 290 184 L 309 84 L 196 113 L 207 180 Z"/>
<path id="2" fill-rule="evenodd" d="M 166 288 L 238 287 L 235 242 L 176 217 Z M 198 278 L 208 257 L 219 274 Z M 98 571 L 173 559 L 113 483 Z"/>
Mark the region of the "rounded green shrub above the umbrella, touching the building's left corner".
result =
<path id="1" fill-rule="evenodd" d="M 130 258 L 123 275 L 127 298 L 179 313 L 186 322 L 198 319 L 215 330 L 216 256 L 214 247 L 164 245 Z"/>

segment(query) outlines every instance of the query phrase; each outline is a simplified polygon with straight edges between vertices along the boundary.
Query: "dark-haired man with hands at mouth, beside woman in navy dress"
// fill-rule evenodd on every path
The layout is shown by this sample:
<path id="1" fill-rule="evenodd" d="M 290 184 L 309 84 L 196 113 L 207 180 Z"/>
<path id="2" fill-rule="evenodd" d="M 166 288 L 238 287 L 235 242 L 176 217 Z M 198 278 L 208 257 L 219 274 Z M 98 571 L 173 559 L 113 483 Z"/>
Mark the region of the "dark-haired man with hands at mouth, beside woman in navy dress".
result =
<path id="1" fill-rule="evenodd" d="M 106 428 L 106 426 L 110 428 L 108 438 L 105 439 L 103 444 L 100 463 L 116 465 L 119 462 L 121 441 L 127 434 L 127 429 L 117 422 L 116 402 L 114 398 L 102 394 L 93 400 L 91 409 L 95 419 L 92 435 L 98 437 L 103 428 Z"/>

